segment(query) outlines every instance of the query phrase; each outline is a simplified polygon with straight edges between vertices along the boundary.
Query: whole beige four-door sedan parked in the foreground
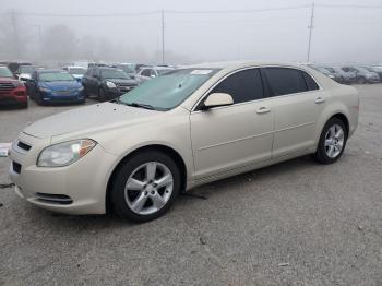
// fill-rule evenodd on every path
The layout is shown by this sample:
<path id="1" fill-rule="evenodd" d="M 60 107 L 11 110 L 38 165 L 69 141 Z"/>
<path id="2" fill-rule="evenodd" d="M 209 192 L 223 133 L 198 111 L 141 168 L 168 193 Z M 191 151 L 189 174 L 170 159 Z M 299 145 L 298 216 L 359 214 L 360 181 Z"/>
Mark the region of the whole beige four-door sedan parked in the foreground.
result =
<path id="1" fill-rule="evenodd" d="M 10 176 L 37 206 L 143 222 L 206 182 L 306 154 L 334 163 L 358 112 L 354 87 L 308 67 L 193 65 L 26 127 Z"/>

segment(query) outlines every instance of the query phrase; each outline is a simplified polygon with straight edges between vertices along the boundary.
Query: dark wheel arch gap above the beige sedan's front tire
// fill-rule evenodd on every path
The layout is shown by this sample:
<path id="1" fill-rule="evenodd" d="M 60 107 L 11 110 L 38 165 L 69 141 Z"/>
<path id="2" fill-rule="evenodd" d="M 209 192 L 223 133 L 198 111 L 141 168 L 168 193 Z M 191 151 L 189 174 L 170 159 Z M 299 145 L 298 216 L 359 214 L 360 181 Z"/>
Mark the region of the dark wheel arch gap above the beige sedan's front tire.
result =
<path id="1" fill-rule="evenodd" d="M 176 150 L 174 150 L 172 147 L 169 147 L 167 145 L 163 145 L 163 144 L 151 144 L 151 145 L 146 145 L 146 146 L 140 146 L 140 147 L 131 151 L 127 155 L 124 155 L 124 157 L 122 157 L 118 162 L 118 164 L 115 166 L 115 168 L 112 169 L 111 175 L 109 176 L 109 179 L 108 179 L 108 182 L 107 182 L 107 187 L 106 187 L 106 198 L 105 198 L 106 213 L 109 213 L 112 210 L 109 195 L 110 195 L 110 190 L 112 188 L 114 178 L 115 178 L 117 171 L 132 156 L 134 156 L 135 154 L 139 154 L 140 152 L 144 152 L 144 151 L 148 151 L 148 150 L 151 150 L 151 151 L 155 150 L 155 151 L 163 152 L 163 153 L 165 153 L 166 155 L 170 156 L 174 159 L 174 162 L 179 167 L 179 170 L 180 170 L 180 174 L 181 174 L 180 192 L 186 191 L 186 187 L 187 187 L 187 167 L 186 167 L 186 163 L 184 163 L 183 158 L 180 156 L 180 154 Z"/>

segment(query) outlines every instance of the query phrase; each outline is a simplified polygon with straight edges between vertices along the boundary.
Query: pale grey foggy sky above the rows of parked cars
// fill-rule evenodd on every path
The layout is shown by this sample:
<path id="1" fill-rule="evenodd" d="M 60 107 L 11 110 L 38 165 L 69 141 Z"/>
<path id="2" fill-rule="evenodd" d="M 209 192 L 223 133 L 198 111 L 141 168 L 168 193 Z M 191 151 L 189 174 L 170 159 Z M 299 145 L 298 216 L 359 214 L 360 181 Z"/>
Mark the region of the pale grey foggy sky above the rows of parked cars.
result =
<path id="1" fill-rule="evenodd" d="M 308 60 L 306 0 L 0 0 L 0 60 Z M 382 62 L 381 1 L 318 1 L 310 61 Z"/>

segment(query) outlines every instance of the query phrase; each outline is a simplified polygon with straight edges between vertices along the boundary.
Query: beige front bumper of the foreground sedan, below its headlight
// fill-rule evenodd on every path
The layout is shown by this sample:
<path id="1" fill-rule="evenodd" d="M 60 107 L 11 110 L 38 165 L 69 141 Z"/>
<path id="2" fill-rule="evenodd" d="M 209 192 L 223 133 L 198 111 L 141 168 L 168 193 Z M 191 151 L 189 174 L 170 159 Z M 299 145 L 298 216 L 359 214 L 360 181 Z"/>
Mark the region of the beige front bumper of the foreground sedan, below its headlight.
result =
<path id="1" fill-rule="evenodd" d="M 98 144 L 70 166 L 38 167 L 37 157 L 44 147 L 50 145 L 50 141 L 25 133 L 20 135 L 19 141 L 32 146 L 25 151 L 14 143 L 9 155 L 12 160 L 9 175 L 21 198 L 39 207 L 60 213 L 81 215 L 106 212 L 106 189 L 115 156 Z"/>

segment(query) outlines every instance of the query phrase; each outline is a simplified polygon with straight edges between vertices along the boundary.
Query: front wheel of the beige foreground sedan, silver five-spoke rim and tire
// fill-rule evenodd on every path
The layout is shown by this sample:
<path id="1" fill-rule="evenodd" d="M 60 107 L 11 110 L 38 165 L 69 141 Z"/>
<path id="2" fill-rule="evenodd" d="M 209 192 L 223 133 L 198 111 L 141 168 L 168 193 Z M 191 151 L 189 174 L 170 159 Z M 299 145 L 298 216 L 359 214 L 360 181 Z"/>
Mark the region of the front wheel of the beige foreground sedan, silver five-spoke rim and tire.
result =
<path id="1" fill-rule="evenodd" d="M 143 223 L 166 213 L 179 190 L 180 172 L 174 159 L 158 151 L 144 151 L 119 168 L 110 201 L 119 217 Z"/>

